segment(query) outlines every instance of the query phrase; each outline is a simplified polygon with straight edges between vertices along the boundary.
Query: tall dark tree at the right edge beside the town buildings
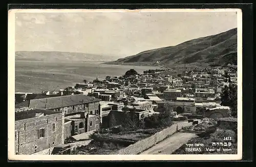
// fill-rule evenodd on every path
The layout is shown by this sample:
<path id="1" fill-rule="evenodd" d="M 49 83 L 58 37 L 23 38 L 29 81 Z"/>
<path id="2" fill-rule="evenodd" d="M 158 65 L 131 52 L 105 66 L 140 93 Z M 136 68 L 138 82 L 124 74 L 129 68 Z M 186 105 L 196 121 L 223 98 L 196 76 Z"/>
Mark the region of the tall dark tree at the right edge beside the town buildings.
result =
<path id="1" fill-rule="evenodd" d="M 221 105 L 229 106 L 233 117 L 237 117 L 237 98 L 237 85 L 225 85 L 221 93 Z"/>

